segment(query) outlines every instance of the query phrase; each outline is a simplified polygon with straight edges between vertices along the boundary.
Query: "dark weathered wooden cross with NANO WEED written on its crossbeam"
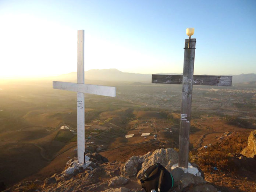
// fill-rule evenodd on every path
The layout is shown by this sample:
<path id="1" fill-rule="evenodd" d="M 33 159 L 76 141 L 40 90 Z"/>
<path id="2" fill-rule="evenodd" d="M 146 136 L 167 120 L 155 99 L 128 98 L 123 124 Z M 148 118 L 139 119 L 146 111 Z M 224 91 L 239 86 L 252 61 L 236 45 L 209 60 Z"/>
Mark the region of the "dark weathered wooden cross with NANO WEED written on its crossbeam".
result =
<path id="1" fill-rule="evenodd" d="M 196 39 L 185 40 L 183 75 L 152 75 L 152 83 L 182 84 L 179 129 L 179 167 L 188 168 L 189 129 L 193 85 L 231 86 L 232 76 L 193 75 Z"/>

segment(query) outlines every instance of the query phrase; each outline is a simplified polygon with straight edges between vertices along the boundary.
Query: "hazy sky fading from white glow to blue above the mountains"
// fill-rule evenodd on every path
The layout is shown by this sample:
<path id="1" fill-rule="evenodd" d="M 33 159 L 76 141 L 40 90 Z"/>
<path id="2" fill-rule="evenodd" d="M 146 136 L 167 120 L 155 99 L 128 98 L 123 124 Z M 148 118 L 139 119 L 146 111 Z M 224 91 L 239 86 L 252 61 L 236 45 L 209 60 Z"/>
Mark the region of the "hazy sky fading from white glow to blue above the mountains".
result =
<path id="1" fill-rule="evenodd" d="M 256 1 L 0 0 L 0 78 L 77 71 L 183 71 L 186 28 L 194 27 L 194 74 L 256 73 Z"/>

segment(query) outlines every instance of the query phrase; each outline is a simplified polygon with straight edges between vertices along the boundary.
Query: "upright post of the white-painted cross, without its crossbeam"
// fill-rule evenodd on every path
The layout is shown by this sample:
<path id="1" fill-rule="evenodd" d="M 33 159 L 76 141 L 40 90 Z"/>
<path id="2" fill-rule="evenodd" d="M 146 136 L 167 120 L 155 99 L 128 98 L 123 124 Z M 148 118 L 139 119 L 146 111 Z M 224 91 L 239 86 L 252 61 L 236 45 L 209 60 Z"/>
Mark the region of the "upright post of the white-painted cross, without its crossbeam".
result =
<path id="1" fill-rule="evenodd" d="M 77 83 L 85 83 L 84 30 L 77 32 Z M 85 153 L 85 94 L 77 92 L 77 157 L 84 162 Z"/>

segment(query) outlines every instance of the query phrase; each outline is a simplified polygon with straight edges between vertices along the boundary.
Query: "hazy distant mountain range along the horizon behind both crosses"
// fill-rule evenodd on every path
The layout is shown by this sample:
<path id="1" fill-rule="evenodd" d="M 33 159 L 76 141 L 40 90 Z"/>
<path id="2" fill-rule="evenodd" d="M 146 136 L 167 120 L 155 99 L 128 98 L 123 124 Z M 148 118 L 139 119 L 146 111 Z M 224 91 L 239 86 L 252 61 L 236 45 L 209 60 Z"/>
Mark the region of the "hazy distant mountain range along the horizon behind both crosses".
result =
<path id="1" fill-rule="evenodd" d="M 158 74 L 170 74 L 170 75 L 182 75 L 177 73 L 158 73 Z M 240 74 L 232 75 L 232 84 L 244 83 L 256 81 L 256 74 Z M 98 81 L 129 81 L 129 82 L 151 82 L 152 74 L 140 74 L 140 73 L 128 73 L 122 72 L 117 69 L 103 69 L 103 70 L 89 70 L 85 71 L 85 79 L 98 80 Z M 77 72 L 71 72 L 68 74 L 59 75 L 54 77 L 56 81 L 72 81 L 77 79 Z"/>

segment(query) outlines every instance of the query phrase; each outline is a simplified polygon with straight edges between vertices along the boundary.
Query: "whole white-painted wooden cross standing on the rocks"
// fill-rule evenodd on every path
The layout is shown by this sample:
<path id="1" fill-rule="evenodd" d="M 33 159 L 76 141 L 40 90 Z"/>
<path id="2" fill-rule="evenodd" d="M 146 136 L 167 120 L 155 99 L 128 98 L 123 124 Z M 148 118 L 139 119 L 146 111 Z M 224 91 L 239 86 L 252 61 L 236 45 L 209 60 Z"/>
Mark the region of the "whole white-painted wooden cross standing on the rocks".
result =
<path id="1" fill-rule="evenodd" d="M 115 87 L 88 85 L 85 83 L 84 70 L 84 30 L 77 32 L 77 83 L 53 81 L 53 89 L 77 92 L 77 157 L 85 163 L 85 94 L 116 96 Z"/>

